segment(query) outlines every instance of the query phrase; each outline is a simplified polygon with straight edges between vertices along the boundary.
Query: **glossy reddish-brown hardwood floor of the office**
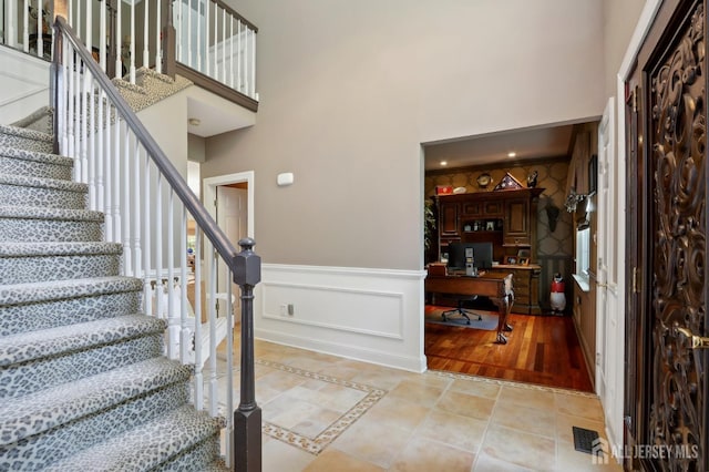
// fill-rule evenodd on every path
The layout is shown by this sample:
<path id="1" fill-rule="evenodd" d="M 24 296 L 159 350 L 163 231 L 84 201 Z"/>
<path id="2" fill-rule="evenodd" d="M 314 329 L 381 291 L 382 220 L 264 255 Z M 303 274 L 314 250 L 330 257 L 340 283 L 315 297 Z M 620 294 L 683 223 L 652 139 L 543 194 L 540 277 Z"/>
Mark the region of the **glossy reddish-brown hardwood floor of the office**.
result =
<path id="1" fill-rule="evenodd" d="M 593 391 L 569 316 L 512 314 L 507 321 L 514 330 L 506 345 L 494 343 L 495 331 L 427 322 L 429 369 Z"/>

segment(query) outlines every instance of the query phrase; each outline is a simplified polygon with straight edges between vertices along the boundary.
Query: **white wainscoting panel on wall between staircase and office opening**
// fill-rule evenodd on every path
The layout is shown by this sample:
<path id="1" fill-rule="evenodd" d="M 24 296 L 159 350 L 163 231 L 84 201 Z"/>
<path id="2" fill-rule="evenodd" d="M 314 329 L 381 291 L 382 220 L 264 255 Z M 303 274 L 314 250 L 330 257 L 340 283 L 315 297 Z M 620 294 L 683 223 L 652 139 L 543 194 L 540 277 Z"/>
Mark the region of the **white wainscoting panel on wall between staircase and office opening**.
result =
<path id="1" fill-rule="evenodd" d="M 264 264 L 254 304 L 256 337 L 423 371 L 424 276 Z"/>

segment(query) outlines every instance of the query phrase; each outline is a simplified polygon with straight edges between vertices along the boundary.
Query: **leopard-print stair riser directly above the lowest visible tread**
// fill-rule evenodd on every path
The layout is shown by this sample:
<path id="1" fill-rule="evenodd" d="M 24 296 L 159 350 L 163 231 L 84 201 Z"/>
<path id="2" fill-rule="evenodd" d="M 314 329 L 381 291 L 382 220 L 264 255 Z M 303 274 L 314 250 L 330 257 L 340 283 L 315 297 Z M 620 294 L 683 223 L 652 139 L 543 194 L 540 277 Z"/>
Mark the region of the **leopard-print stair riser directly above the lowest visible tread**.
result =
<path id="1" fill-rule="evenodd" d="M 185 404 L 187 392 L 186 383 L 175 383 L 7 448 L 0 447 L 0 464 L 8 464 L 8 470 L 43 470 L 48 464 L 105 440 L 107 435 L 124 433 Z"/>

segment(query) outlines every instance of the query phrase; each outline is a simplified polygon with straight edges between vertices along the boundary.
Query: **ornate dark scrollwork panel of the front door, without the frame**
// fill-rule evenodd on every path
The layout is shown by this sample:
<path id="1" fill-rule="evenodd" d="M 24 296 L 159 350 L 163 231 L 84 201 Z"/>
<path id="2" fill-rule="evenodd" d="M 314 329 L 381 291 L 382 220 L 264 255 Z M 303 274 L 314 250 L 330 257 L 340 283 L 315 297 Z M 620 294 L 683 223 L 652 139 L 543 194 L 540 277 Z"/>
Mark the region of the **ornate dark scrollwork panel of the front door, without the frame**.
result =
<path id="1" fill-rule="evenodd" d="M 702 350 L 687 336 L 705 332 L 706 70 L 705 9 L 698 2 L 657 66 L 649 70 L 653 332 L 650 445 L 667 471 L 705 471 Z M 685 331 L 686 332 L 686 331 Z"/>

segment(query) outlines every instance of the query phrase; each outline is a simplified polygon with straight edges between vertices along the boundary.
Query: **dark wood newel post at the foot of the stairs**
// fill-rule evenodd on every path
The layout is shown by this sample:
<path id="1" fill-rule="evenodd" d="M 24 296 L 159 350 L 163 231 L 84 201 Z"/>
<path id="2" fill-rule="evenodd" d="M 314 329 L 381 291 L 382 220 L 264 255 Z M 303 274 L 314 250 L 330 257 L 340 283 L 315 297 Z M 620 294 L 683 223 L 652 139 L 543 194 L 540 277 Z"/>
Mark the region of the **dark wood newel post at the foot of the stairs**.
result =
<path id="1" fill-rule="evenodd" d="M 261 279 L 261 258 L 251 238 L 239 240 L 234 283 L 242 288 L 242 388 L 239 408 L 234 412 L 234 470 L 261 470 L 261 409 L 256 404 L 254 372 L 254 287 Z"/>

